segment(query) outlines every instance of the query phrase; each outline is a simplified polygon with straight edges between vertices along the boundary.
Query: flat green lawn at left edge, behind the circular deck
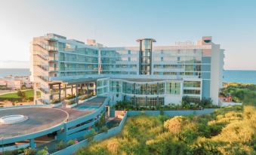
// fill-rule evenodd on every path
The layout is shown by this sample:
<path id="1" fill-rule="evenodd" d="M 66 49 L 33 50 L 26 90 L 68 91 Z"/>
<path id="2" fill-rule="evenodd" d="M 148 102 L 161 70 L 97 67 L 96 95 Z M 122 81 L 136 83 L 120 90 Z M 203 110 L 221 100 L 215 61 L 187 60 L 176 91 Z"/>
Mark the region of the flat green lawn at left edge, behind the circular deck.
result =
<path id="1" fill-rule="evenodd" d="M 22 102 L 22 101 L 32 101 L 34 99 L 34 90 L 24 90 L 18 91 L 17 93 L 8 93 L 0 95 L 0 101 L 12 101 L 12 102 Z"/>

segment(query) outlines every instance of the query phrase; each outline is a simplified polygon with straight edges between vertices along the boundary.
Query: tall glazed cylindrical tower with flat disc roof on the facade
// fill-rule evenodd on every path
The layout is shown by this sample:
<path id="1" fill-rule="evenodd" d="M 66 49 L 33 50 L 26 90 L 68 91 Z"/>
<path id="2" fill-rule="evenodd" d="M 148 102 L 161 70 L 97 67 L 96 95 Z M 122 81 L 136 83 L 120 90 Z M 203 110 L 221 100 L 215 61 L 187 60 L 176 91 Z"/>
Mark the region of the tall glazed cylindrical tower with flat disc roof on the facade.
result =
<path id="1" fill-rule="evenodd" d="M 152 45 L 156 42 L 153 38 L 137 39 L 140 43 L 139 73 L 152 74 Z"/>

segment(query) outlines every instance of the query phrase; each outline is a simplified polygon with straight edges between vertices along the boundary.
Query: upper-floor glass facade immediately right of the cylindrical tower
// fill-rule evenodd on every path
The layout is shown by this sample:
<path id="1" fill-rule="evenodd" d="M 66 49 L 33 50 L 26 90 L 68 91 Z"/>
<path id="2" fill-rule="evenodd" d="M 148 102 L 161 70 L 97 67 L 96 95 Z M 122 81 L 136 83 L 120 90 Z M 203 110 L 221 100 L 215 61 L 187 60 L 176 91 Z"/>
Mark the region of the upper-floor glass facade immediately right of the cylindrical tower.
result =
<path id="1" fill-rule="evenodd" d="M 153 74 L 202 78 L 202 50 L 154 50 Z"/>

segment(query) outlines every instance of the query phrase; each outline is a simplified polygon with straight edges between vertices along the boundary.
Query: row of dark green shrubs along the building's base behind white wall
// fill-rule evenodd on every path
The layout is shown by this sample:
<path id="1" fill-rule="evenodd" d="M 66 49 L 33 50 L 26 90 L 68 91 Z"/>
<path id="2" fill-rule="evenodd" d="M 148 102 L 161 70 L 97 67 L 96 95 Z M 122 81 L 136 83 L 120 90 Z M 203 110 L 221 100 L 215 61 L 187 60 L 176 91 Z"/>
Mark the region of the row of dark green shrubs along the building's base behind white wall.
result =
<path id="1" fill-rule="evenodd" d="M 156 106 L 137 106 L 128 101 L 117 102 L 114 105 L 116 110 L 129 110 L 129 111 L 170 111 L 170 110 L 184 110 L 184 109 L 201 109 L 201 108 L 217 108 L 212 104 L 211 99 L 202 99 L 199 101 L 192 101 L 189 97 L 185 96 L 182 99 L 181 105 L 156 105 Z"/>

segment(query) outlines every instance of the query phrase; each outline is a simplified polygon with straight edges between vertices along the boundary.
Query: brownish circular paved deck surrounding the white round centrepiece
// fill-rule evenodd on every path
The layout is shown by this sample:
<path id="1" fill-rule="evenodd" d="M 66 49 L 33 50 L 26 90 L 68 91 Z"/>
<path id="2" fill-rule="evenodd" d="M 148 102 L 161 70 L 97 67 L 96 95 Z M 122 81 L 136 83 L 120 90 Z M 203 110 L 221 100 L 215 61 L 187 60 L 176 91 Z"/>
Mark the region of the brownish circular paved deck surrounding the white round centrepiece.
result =
<path id="1" fill-rule="evenodd" d="M 0 137 L 11 138 L 50 129 L 66 121 L 68 114 L 57 108 L 10 108 L 0 110 L 0 117 L 23 115 L 20 123 L 0 124 Z"/>

